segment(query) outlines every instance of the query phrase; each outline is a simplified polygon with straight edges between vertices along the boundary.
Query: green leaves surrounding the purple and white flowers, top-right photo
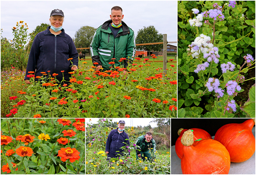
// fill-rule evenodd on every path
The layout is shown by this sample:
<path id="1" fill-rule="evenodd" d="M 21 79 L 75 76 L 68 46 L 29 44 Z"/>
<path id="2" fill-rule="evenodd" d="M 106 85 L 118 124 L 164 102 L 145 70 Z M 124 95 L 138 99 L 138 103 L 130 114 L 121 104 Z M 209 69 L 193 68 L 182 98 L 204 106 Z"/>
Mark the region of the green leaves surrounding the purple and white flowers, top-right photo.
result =
<path id="1" fill-rule="evenodd" d="M 191 9 L 196 8 L 199 13 L 209 11 L 213 9 L 214 3 L 223 7 L 222 12 L 225 19 L 217 21 L 213 25 L 212 19 L 204 17 L 201 27 L 191 27 L 188 20 L 196 16 Z M 178 93 L 178 117 L 245 116 L 245 113 L 239 110 L 238 105 L 236 105 L 235 115 L 225 112 L 228 101 L 231 99 L 241 100 L 242 97 L 239 96 L 239 93 L 237 97 L 224 95 L 219 99 L 215 98 L 213 91 L 209 92 L 205 87 L 209 77 L 223 76 L 220 79 L 220 87 L 224 89 L 229 80 L 236 80 L 238 72 L 244 64 L 244 55 L 251 54 L 255 58 L 255 1 L 236 1 L 236 3 L 236 7 L 232 8 L 228 7 L 228 1 L 178 1 L 178 91 L 180 92 Z M 205 24 L 204 20 L 209 20 L 212 26 Z M 202 64 L 206 59 L 203 59 L 203 54 L 200 54 L 198 59 L 193 58 L 190 44 L 200 34 L 211 37 L 211 43 L 219 48 L 220 58 L 218 64 L 210 62 L 210 66 L 206 70 L 196 74 L 194 70 L 197 65 Z M 228 61 L 235 64 L 236 68 L 233 72 L 227 71 L 222 75 L 220 64 Z M 252 81 L 255 77 L 254 74 L 246 74 L 246 72 L 249 69 L 255 69 L 254 65 L 255 62 L 251 67 L 241 69 L 239 75 L 242 73 L 246 79 Z M 243 83 L 239 85 L 242 86 Z M 244 89 L 240 92 L 242 91 Z"/>

